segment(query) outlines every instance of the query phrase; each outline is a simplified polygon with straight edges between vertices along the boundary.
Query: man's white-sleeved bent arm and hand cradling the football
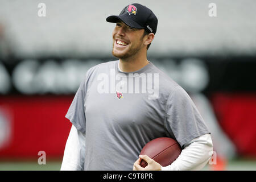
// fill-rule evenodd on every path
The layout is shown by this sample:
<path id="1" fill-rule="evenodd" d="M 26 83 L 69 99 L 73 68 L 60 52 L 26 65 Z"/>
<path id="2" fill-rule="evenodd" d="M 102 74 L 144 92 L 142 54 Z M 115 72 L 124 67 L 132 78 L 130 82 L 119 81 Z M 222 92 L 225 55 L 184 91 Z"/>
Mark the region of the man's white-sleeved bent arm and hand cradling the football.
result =
<path id="1" fill-rule="evenodd" d="M 162 171 L 187 171 L 187 170 L 200 170 L 210 159 L 210 153 L 213 150 L 212 139 L 210 134 L 201 135 L 191 142 L 181 151 L 179 157 L 169 166 L 162 167 L 153 159 L 146 155 L 140 157 L 145 160 L 148 166 L 142 168 L 139 166 L 140 159 L 134 163 L 134 170 L 160 170 Z"/>

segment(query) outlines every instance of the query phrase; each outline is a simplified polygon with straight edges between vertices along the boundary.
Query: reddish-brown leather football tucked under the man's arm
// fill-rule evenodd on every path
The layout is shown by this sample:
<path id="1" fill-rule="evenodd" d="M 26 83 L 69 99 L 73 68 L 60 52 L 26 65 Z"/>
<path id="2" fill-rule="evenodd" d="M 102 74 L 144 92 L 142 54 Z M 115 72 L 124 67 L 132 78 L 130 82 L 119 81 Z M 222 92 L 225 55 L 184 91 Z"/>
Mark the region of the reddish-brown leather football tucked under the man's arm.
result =
<path id="1" fill-rule="evenodd" d="M 141 155 L 147 155 L 161 166 L 169 166 L 181 153 L 181 147 L 175 139 L 168 137 L 155 138 L 148 142 L 141 151 Z M 141 167 L 147 163 L 142 160 Z"/>

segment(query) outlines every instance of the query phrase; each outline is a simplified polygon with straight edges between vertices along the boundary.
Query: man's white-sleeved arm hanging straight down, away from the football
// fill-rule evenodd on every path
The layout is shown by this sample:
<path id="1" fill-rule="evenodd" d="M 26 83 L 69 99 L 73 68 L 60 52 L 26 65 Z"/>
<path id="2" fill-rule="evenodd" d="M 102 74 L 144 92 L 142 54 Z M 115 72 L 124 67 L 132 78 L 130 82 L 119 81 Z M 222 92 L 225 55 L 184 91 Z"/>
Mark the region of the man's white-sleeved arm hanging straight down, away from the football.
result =
<path id="1" fill-rule="evenodd" d="M 78 131 L 74 125 L 65 146 L 61 171 L 84 170 L 85 134 Z"/>

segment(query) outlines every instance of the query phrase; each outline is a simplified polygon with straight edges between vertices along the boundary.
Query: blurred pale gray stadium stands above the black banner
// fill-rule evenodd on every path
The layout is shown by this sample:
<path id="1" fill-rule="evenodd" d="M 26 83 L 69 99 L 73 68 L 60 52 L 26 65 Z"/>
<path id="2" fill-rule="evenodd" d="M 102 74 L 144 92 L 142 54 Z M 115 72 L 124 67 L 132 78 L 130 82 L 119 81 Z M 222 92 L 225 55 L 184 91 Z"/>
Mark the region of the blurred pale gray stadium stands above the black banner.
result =
<path id="1" fill-rule="evenodd" d="M 111 56 L 114 24 L 108 15 L 134 1 L 0 0 L 0 24 L 15 55 L 20 57 Z M 159 19 L 149 56 L 254 55 L 256 1 L 137 1 Z M 210 3 L 216 16 L 210 17 Z"/>

